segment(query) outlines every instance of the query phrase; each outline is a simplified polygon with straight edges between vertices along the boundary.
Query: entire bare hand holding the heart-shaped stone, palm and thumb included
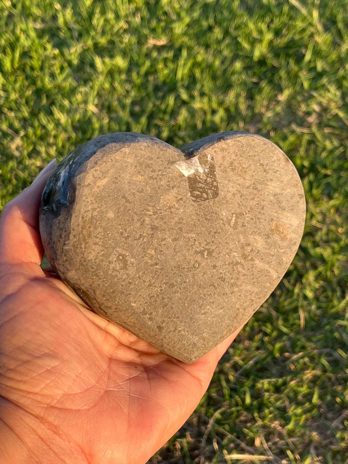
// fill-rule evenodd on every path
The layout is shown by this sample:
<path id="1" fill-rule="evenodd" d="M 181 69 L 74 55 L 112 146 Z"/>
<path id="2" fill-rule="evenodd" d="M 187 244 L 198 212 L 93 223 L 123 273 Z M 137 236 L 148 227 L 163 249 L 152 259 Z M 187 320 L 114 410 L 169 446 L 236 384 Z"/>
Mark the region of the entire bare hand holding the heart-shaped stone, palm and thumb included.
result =
<path id="1" fill-rule="evenodd" d="M 87 309 L 40 268 L 39 202 L 54 168 L 0 217 L 0 463 L 146 463 L 242 327 L 188 365 Z"/>

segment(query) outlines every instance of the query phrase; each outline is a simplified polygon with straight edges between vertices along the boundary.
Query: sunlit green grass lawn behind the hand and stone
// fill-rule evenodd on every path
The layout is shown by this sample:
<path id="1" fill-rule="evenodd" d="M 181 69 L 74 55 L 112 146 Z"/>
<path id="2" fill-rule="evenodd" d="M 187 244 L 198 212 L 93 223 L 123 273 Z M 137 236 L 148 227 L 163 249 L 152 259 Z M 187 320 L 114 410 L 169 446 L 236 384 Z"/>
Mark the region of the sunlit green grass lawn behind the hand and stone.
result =
<path id="1" fill-rule="evenodd" d="M 289 271 L 151 463 L 347 462 L 347 26 L 348 0 L 0 0 L 1 206 L 113 131 L 257 132 L 303 182 Z"/>

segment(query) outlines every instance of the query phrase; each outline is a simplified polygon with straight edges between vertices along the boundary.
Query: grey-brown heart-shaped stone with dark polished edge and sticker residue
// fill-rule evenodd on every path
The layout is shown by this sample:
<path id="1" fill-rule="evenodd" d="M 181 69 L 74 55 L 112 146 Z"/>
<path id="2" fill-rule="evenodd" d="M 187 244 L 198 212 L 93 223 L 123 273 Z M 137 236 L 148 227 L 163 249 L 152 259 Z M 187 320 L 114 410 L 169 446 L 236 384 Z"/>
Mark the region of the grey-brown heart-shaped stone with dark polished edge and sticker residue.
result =
<path id="1" fill-rule="evenodd" d="M 101 135 L 58 164 L 40 208 L 48 260 L 97 314 L 193 362 L 271 294 L 300 243 L 303 187 L 267 139 L 179 150 Z"/>

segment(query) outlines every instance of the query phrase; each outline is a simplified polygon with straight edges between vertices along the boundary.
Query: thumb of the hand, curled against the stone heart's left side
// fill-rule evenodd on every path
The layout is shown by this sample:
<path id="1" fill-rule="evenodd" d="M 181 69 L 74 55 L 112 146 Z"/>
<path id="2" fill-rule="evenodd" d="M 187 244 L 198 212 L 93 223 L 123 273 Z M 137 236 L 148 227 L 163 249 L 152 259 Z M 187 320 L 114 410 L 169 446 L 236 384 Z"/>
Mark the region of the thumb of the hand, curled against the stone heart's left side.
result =
<path id="1" fill-rule="evenodd" d="M 39 205 L 45 184 L 55 167 L 54 159 L 30 187 L 4 207 L 0 216 L 0 263 L 40 264 L 43 248 L 39 232 Z"/>

